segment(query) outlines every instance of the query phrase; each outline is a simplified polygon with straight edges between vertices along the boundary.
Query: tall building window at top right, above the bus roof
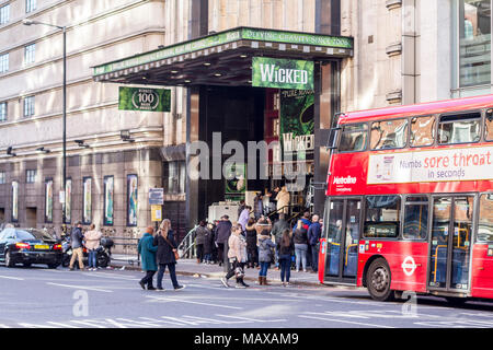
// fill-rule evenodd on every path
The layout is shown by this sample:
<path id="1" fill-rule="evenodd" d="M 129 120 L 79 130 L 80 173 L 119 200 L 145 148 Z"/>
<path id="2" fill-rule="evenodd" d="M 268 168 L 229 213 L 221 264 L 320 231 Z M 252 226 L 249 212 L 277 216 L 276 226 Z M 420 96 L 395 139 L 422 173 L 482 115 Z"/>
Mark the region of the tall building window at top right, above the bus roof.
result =
<path id="1" fill-rule="evenodd" d="M 459 0 L 459 86 L 491 83 L 491 0 Z"/>

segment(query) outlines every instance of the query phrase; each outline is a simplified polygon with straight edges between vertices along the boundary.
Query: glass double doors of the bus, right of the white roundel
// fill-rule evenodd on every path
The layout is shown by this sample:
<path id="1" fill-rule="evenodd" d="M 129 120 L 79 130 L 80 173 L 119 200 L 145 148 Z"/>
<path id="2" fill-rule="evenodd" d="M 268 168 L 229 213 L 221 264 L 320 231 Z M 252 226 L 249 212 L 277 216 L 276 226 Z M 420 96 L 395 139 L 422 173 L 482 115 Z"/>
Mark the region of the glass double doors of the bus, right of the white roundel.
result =
<path id="1" fill-rule="evenodd" d="M 474 197 L 436 197 L 433 202 L 429 287 L 469 289 Z"/>

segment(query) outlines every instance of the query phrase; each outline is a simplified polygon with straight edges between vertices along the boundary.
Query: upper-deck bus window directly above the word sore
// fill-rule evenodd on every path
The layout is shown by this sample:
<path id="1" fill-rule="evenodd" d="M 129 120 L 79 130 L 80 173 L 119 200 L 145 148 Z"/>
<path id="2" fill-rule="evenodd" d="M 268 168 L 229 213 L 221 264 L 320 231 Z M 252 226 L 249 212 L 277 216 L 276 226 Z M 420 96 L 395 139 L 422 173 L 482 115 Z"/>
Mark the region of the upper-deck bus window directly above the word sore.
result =
<path id="1" fill-rule="evenodd" d="M 469 113 L 458 116 L 443 116 L 438 125 L 438 143 L 470 143 L 480 140 L 479 113 Z"/>

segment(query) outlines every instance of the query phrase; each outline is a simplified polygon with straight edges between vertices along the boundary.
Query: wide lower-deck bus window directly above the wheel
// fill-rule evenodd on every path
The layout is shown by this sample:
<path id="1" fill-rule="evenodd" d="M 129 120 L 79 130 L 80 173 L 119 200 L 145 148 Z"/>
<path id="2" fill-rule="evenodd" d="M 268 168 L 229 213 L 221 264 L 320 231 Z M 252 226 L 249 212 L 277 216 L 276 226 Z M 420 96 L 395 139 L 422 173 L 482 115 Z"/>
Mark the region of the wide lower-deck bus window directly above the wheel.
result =
<path id="1" fill-rule="evenodd" d="M 399 236 L 401 198 L 399 196 L 369 196 L 366 198 L 364 235 L 371 238 Z"/>

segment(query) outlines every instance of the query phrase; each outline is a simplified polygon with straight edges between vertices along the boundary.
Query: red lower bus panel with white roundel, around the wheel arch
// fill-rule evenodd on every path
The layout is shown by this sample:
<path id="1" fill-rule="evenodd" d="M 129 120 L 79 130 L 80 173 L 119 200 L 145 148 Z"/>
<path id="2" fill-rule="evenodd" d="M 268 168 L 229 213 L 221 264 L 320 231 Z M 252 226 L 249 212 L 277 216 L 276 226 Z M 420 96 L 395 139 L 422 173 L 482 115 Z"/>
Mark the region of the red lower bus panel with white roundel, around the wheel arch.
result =
<path id="1" fill-rule="evenodd" d="M 368 259 L 379 255 L 389 264 L 392 290 L 426 292 L 428 265 L 426 242 L 360 241 L 359 246 L 358 285 L 363 285 L 363 273 Z"/>

